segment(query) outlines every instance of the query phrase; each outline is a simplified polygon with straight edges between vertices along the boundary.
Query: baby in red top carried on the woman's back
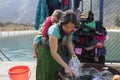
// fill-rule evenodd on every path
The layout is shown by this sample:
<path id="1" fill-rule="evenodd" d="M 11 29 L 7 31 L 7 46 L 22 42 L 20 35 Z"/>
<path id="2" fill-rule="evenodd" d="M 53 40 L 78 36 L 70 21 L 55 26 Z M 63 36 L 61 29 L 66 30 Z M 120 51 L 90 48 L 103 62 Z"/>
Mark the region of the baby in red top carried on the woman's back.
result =
<path id="1" fill-rule="evenodd" d="M 62 10 L 56 9 L 51 16 L 48 16 L 46 18 L 46 20 L 43 22 L 42 24 L 42 38 L 44 41 L 47 41 L 48 36 L 47 36 L 47 31 L 48 28 L 52 25 L 52 24 L 56 24 L 59 22 L 59 19 L 61 18 L 63 14 Z M 38 43 L 40 42 L 40 36 L 36 36 L 34 39 L 34 52 L 33 52 L 33 57 L 37 58 L 37 47 L 38 47 Z"/>

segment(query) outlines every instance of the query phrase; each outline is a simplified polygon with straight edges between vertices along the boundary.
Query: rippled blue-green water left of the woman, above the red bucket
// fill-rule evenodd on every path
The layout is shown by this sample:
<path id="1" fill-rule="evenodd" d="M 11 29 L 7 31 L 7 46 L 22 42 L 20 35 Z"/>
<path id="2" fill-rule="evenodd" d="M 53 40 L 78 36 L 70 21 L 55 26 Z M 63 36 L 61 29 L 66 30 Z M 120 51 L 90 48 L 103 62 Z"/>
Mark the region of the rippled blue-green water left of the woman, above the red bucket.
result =
<path id="1" fill-rule="evenodd" d="M 0 38 L 0 50 L 11 61 L 35 61 L 33 54 L 33 39 L 35 34 Z M 7 59 L 0 54 L 4 61 Z"/>

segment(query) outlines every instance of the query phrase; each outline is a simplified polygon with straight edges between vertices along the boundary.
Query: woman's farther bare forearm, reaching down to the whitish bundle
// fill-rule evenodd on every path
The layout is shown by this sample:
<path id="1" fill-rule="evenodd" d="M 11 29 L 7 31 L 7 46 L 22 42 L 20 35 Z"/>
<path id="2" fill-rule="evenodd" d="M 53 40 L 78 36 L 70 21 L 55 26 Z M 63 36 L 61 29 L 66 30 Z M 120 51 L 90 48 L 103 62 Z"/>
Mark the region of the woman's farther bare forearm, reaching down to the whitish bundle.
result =
<path id="1" fill-rule="evenodd" d="M 69 49 L 72 57 L 76 57 L 75 52 L 74 52 L 74 49 L 73 49 L 72 36 L 71 36 L 71 35 L 68 35 L 68 36 L 67 36 L 67 41 L 66 41 L 66 43 L 67 43 L 67 47 L 68 47 L 68 49 Z"/>

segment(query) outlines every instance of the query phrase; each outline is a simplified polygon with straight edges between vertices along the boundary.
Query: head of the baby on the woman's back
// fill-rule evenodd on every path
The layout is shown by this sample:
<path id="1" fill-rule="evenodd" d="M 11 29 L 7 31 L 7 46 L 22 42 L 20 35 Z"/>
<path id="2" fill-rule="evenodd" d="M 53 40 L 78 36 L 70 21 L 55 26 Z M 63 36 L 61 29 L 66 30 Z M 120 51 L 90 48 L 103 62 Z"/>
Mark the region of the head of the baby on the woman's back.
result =
<path id="1" fill-rule="evenodd" d="M 61 18 L 63 14 L 63 11 L 62 10 L 59 10 L 59 9 L 56 9 L 53 13 L 52 13 L 52 16 L 51 16 L 51 21 L 52 23 L 58 23 L 59 22 L 59 19 Z"/>

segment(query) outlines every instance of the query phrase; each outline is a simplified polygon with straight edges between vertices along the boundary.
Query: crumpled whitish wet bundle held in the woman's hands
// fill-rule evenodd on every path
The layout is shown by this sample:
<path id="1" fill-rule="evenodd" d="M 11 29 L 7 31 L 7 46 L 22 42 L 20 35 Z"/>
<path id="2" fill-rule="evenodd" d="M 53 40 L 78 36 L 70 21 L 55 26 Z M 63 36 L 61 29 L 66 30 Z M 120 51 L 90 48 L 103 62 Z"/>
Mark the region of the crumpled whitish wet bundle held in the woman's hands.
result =
<path id="1" fill-rule="evenodd" d="M 74 72 L 76 78 L 82 75 L 82 63 L 80 63 L 77 57 L 73 57 L 68 65 Z"/>

